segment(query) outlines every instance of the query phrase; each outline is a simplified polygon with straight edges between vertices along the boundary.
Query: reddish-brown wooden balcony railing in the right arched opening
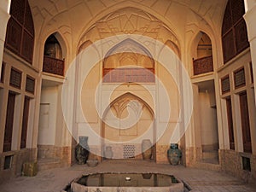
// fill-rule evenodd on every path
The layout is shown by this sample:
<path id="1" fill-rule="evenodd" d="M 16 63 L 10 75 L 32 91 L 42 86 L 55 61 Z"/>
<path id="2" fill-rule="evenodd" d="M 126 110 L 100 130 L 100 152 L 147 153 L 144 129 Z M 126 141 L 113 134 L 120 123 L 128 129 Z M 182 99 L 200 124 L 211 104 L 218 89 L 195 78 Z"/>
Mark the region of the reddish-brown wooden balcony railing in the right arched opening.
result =
<path id="1" fill-rule="evenodd" d="M 194 75 L 213 72 L 212 55 L 193 61 Z"/>

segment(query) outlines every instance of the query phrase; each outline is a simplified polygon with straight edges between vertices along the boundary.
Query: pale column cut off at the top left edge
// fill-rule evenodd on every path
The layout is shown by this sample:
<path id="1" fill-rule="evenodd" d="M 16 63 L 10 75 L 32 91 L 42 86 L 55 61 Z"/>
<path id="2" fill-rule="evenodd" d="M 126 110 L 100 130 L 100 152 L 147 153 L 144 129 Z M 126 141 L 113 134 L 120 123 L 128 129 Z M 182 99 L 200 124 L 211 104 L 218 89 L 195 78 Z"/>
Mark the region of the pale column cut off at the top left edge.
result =
<path id="1" fill-rule="evenodd" d="M 9 20 L 9 7 L 10 7 L 10 0 L 1 0 L 0 1 L 0 77 L 1 77 L 1 70 L 2 70 L 2 62 L 3 62 L 3 48 L 4 48 L 4 41 L 6 35 L 6 27 Z"/>

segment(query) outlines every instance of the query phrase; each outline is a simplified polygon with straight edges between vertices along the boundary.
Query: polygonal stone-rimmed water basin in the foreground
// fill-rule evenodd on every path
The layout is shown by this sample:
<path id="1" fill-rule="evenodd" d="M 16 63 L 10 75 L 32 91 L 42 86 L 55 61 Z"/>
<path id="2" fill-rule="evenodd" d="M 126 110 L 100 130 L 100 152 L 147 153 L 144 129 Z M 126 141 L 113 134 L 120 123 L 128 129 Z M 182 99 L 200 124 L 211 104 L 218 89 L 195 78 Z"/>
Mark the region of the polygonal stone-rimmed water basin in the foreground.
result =
<path id="1" fill-rule="evenodd" d="M 160 173 L 96 173 L 75 179 L 63 190 L 67 192 L 183 192 L 183 182 L 172 175 Z"/>

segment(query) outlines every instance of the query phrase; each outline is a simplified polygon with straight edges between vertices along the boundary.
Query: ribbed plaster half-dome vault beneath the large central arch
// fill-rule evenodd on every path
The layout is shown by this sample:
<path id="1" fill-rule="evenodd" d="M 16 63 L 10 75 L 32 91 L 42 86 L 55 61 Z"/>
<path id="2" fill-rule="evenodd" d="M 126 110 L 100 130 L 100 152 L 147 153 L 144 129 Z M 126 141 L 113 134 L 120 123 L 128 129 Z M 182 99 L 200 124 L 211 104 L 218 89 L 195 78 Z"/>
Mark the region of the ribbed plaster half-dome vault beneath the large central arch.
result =
<path id="1" fill-rule="evenodd" d="M 87 32 L 84 32 L 79 45 L 87 40 L 95 42 L 119 34 L 144 35 L 163 43 L 171 39 L 173 44 L 179 47 L 176 36 L 162 21 L 142 9 L 131 7 L 119 9 L 97 21 Z"/>

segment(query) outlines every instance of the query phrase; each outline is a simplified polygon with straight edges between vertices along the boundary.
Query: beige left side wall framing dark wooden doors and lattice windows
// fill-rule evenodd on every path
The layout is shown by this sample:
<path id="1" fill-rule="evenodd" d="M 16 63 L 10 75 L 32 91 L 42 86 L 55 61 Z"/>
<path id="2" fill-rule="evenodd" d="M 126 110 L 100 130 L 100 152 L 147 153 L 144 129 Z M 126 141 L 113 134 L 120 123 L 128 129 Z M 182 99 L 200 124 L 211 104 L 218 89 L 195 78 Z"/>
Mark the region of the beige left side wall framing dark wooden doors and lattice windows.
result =
<path id="1" fill-rule="evenodd" d="M 34 117 L 37 113 L 36 111 L 36 103 L 38 102 L 38 91 L 37 86 L 39 85 L 40 79 L 38 77 L 38 69 L 32 67 L 26 61 L 20 59 L 16 55 L 12 54 L 8 49 L 4 49 L 3 51 L 3 62 L 5 63 L 4 69 L 4 80 L 3 83 L 0 84 L 0 89 L 2 91 L 2 101 L 5 103 L 1 106 L 1 108 L 7 108 L 7 101 L 9 91 L 12 91 L 16 94 L 15 96 L 15 120 L 13 127 L 13 138 L 12 138 L 12 148 L 11 151 L 5 152 L 1 154 L 1 177 L 2 181 L 9 177 L 15 177 L 21 174 L 22 165 L 26 161 L 35 161 L 37 160 L 37 128 L 36 122 L 34 121 Z M 21 78 L 21 86 L 20 89 L 17 89 L 9 84 L 10 72 L 11 68 L 15 68 L 22 73 Z M 35 79 L 35 90 L 34 93 L 30 93 L 26 91 L 26 77 L 32 77 Z M 30 106 L 29 106 L 29 114 L 28 114 L 28 126 L 27 126 L 27 135 L 26 135 L 26 148 L 20 148 L 20 137 L 21 137 L 21 129 L 22 129 L 22 118 L 23 118 L 23 108 L 24 108 L 24 99 L 25 96 L 30 98 Z M 6 110 L 5 113 L 1 115 L 1 131 L 4 133 L 4 125 L 6 118 Z M 3 141 L 4 134 L 1 134 L 1 141 Z M 3 143 L 0 144 L 3 150 Z M 3 170 L 3 163 L 6 156 L 11 156 L 11 168 L 6 171 Z M 3 174 L 5 172 L 6 174 Z"/>

